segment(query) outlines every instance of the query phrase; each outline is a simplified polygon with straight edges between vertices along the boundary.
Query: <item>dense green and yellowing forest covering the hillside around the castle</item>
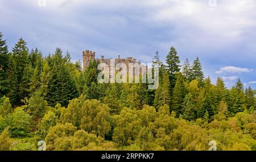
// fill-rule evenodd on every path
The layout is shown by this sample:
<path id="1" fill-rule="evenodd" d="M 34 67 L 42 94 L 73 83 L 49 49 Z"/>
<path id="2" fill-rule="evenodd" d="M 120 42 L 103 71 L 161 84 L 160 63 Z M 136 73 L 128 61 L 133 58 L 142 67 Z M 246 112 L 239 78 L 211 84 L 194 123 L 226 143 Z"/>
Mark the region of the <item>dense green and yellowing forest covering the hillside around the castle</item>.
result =
<path id="1" fill-rule="evenodd" d="M 98 63 L 82 70 L 71 53 L 43 55 L 20 38 L 11 51 L 0 32 L 0 150 L 256 150 L 255 90 L 240 79 L 213 84 L 199 58 L 174 47 L 160 64 L 159 86 L 100 84 Z"/>

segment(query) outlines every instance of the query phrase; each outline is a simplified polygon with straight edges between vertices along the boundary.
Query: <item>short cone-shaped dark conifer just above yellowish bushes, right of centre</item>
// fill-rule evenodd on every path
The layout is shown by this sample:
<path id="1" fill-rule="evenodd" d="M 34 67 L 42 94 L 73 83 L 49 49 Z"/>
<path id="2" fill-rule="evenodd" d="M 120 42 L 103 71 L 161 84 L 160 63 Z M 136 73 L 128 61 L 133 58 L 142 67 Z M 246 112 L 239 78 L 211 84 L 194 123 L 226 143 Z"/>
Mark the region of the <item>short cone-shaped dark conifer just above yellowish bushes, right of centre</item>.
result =
<path id="1" fill-rule="evenodd" d="M 193 121 L 196 119 L 195 105 L 193 104 L 192 100 L 193 99 L 191 93 L 187 94 L 184 100 L 183 118 L 188 121 Z"/>

